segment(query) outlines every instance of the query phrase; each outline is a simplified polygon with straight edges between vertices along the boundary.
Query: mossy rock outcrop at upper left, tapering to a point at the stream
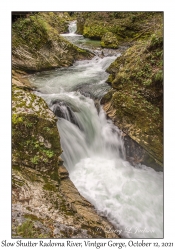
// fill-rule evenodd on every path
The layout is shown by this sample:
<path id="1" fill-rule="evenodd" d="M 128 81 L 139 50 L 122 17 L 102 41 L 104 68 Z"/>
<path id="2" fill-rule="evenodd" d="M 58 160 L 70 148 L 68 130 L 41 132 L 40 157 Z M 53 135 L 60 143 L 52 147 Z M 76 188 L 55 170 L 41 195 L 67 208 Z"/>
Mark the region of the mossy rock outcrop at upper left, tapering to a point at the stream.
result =
<path id="1" fill-rule="evenodd" d="M 69 15 L 68 15 L 69 16 Z M 66 67 L 92 53 L 70 44 L 60 32 L 68 20 L 57 13 L 36 13 L 12 25 L 12 67 L 27 72 Z"/>

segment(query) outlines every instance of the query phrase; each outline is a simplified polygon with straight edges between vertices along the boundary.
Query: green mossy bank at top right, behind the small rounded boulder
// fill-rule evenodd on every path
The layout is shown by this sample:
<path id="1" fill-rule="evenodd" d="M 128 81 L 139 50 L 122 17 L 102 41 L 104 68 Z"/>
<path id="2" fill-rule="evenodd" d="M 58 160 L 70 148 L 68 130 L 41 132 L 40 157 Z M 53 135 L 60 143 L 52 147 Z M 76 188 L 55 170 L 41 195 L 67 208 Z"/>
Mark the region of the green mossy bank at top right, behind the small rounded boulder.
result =
<path id="1" fill-rule="evenodd" d="M 91 39 L 99 39 L 112 32 L 119 44 L 148 38 L 159 23 L 160 12 L 79 12 L 77 33 Z"/>

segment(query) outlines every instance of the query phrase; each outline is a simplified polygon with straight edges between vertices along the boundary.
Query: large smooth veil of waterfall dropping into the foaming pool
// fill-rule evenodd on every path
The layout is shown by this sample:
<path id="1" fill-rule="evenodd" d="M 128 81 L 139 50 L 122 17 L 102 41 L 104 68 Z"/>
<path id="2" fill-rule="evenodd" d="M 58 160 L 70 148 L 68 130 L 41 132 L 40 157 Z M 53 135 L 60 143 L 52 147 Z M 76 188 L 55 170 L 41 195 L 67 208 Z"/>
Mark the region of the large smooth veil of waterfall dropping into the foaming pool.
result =
<path id="1" fill-rule="evenodd" d="M 63 99 L 69 96 L 69 101 Z M 69 173 L 85 157 L 125 158 L 120 132 L 93 100 L 80 93 L 67 93 L 54 101 L 51 109 L 58 115 L 58 128 L 64 149 L 63 160 Z"/>

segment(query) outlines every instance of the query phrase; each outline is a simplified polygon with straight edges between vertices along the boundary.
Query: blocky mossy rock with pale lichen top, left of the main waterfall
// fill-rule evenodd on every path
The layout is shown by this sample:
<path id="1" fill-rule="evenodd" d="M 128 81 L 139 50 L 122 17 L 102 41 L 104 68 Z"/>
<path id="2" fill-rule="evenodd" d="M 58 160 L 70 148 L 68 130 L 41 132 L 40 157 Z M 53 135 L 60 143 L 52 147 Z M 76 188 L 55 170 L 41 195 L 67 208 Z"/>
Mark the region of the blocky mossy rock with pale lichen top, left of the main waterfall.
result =
<path id="1" fill-rule="evenodd" d="M 12 89 L 13 164 L 47 172 L 58 180 L 62 150 L 54 114 L 40 97 L 17 87 Z"/>

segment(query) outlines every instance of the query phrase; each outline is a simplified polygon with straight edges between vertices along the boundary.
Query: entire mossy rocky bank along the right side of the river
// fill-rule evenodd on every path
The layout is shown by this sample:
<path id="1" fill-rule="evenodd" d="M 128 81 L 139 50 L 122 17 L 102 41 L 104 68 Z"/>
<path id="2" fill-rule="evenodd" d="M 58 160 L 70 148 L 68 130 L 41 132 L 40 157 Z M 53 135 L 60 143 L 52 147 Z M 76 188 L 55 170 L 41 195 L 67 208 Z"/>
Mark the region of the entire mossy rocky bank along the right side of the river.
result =
<path id="1" fill-rule="evenodd" d="M 84 12 L 77 32 L 102 47 L 130 48 L 107 69 L 112 89 L 101 103 L 124 132 L 127 159 L 161 170 L 163 165 L 163 14 Z"/>

